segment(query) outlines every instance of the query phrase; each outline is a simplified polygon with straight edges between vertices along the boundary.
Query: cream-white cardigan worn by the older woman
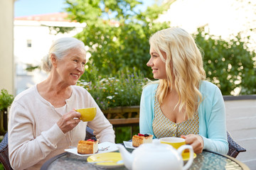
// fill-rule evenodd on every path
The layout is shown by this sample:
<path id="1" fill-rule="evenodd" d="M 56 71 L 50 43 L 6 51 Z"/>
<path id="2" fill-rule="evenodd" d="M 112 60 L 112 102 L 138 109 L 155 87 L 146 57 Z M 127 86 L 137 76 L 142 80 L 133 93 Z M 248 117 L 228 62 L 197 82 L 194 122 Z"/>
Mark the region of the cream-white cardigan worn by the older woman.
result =
<path id="1" fill-rule="evenodd" d="M 63 133 L 56 124 L 62 116 L 39 93 L 36 85 L 18 94 L 11 105 L 9 115 L 9 159 L 13 169 L 40 169 L 44 162 L 76 147 L 85 140 L 88 125 L 100 142 L 114 142 L 114 130 L 97 103 L 80 86 L 71 86 L 72 95 L 66 100 L 68 111 L 73 108 L 96 107 L 95 119 L 82 122 L 70 132 Z"/>

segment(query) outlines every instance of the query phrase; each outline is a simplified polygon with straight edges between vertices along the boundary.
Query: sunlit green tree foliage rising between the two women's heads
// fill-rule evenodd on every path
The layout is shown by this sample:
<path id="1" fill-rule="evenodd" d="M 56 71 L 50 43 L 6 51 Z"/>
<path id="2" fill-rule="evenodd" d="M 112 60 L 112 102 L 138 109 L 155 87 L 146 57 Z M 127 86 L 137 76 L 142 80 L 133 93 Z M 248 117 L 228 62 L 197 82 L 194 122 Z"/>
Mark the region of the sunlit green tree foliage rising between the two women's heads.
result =
<path id="1" fill-rule="evenodd" d="M 142 4 L 136 0 L 66 0 L 66 11 L 72 20 L 87 23 L 76 38 L 89 46 L 93 63 L 100 74 L 114 74 L 123 69 L 137 68 L 149 74 L 149 36 L 168 23 L 153 22 L 170 3 L 137 11 Z"/>

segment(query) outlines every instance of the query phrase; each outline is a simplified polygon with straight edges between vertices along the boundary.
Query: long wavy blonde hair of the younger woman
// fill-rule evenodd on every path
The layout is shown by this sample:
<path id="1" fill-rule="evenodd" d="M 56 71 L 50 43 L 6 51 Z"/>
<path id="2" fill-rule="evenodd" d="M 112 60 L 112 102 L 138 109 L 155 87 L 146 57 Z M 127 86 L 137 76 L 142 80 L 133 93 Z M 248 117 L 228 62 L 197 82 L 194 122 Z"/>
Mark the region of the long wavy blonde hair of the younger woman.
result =
<path id="1" fill-rule="evenodd" d="M 188 118 L 198 111 L 203 96 L 199 91 L 200 81 L 206 79 L 203 59 L 193 37 L 181 28 L 167 28 L 154 33 L 149 44 L 166 62 L 167 79 L 159 81 L 156 97 L 161 104 L 169 90 L 178 93 L 178 111 L 185 108 Z M 165 52 L 166 60 L 161 52 Z M 198 97 L 200 100 L 198 101 Z"/>

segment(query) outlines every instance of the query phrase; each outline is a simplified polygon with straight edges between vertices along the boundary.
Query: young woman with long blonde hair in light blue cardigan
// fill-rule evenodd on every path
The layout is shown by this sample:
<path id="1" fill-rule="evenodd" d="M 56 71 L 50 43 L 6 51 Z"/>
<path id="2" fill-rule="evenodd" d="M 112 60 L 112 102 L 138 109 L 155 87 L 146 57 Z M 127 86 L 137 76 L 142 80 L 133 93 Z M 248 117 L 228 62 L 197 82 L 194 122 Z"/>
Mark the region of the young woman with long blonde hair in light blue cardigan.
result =
<path id="1" fill-rule="evenodd" d="M 205 81 L 201 51 L 181 28 L 167 28 L 149 39 L 154 81 L 144 87 L 140 133 L 183 137 L 195 153 L 227 154 L 225 106 L 218 86 Z"/>

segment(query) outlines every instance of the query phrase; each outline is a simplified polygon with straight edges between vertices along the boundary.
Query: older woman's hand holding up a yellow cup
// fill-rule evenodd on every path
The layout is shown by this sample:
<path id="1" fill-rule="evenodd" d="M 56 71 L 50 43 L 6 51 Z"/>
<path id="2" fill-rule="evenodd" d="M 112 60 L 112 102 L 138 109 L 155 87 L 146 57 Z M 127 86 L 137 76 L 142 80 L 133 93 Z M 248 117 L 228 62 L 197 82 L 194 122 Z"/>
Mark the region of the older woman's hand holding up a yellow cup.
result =
<path id="1" fill-rule="evenodd" d="M 76 112 L 75 109 L 68 113 L 65 113 L 60 120 L 58 120 L 57 125 L 63 133 L 73 130 L 78 123 L 80 123 L 81 114 Z M 75 119 L 74 119 L 75 118 Z"/>

